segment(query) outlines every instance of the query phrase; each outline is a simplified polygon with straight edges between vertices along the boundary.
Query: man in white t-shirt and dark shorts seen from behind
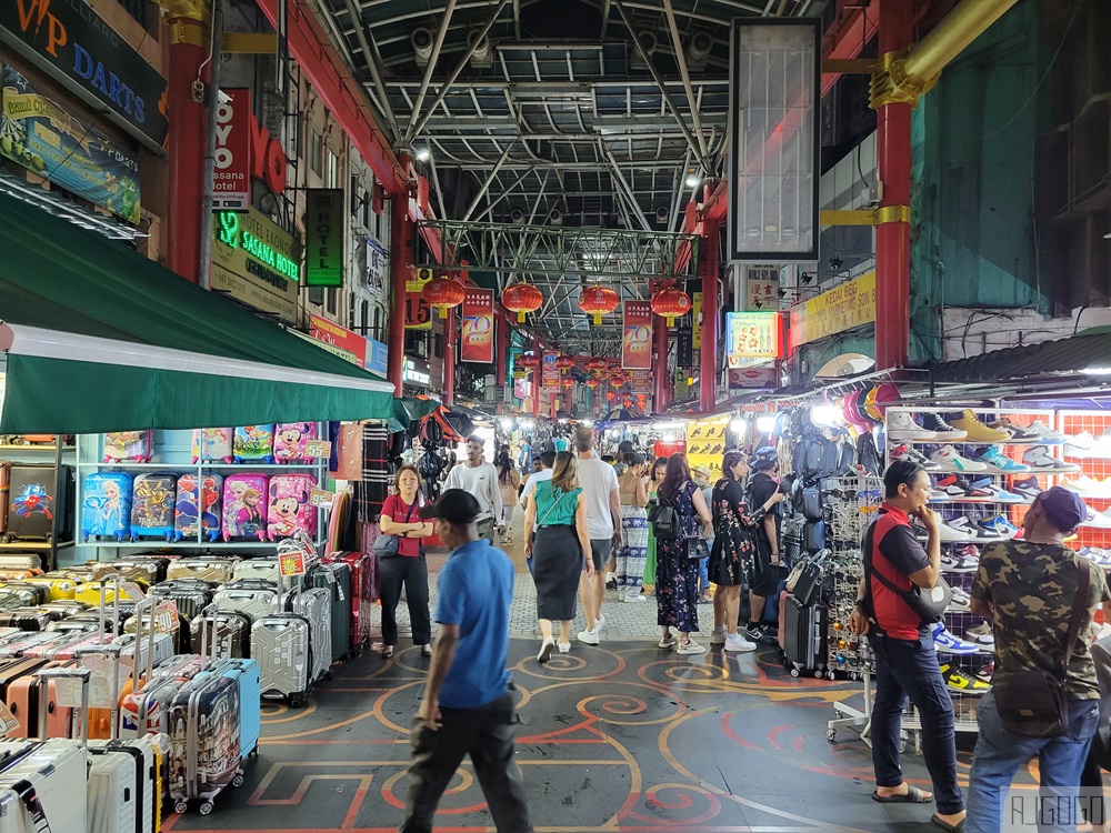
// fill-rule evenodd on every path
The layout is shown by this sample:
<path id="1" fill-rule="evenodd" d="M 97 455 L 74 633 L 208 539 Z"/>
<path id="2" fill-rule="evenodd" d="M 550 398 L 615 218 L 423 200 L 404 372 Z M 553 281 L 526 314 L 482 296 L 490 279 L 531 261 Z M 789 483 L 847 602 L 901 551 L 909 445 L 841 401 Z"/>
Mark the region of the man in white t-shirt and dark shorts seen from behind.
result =
<path id="1" fill-rule="evenodd" d="M 579 634 L 579 642 L 597 645 L 598 633 L 605 626 L 605 616 L 602 615 L 605 562 L 613 548 L 621 543 L 621 495 L 613 466 L 594 454 L 593 431 L 585 426 L 575 431 L 574 450 L 579 454 L 579 485 L 587 496 L 588 558 L 594 561 L 594 574 L 588 576 L 583 572 L 579 579 L 579 598 L 587 615 L 587 630 Z"/>

